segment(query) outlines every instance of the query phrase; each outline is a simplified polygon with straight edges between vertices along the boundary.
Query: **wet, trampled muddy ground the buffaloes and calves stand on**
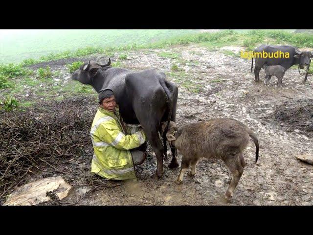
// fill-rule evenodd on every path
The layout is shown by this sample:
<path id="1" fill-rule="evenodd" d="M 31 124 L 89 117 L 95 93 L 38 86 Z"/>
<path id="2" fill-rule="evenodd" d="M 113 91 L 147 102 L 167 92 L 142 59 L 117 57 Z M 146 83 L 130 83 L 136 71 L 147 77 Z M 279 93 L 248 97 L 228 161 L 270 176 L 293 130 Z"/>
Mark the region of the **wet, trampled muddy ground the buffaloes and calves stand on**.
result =
<path id="1" fill-rule="evenodd" d="M 128 52 L 128 59 L 123 60 L 122 67 L 136 70 L 157 68 L 167 72 L 168 79 L 179 85 L 179 126 L 229 117 L 241 120 L 255 131 L 260 143 L 258 163 L 255 164 L 255 146 L 250 141 L 244 153 L 246 167 L 243 176 L 228 205 L 313 205 L 313 165 L 295 158 L 313 154 L 313 76 L 309 75 L 307 83 L 303 83 L 304 75 L 299 75 L 297 70 L 288 70 L 283 79 L 284 86 L 278 88 L 275 77 L 268 86 L 263 85 L 265 74 L 262 70 L 260 83 L 255 83 L 250 60 L 223 53 L 223 50 L 238 52 L 241 49 L 244 50 L 241 47 L 209 50 L 189 45 L 166 50 L 139 50 Z M 164 58 L 160 56 L 161 52 L 175 53 L 179 57 Z M 117 53 L 111 57 L 112 61 L 117 58 Z M 88 59 L 106 62 L 108 57 L 89 56 L 85 61 Z M 45 64 L 52 70 L 66 71 L 65 65 L 73 61 L 76 59 Z M 171 71 L 173 64 L 178 65 L 180 73 Z M 42 65 L 35 65 L 33 69 L 39 67 Z M 184 78 L 179 79 L 182 72 Z M 68 75 L 63 77 L 68 78 Z M 86 108 L 95 105 L 89 102 Z M 90 118 L 93 115 L 91 113 Z M 91 146 L 87 147 L 86 153 L 86 156 L 77 156 L 68 163 L 68 167 L 79 173 L 65 176 L 75 188 L 59 202 L 61 205 L 216 205 L 231 177 L 222 161 L 202 159 L 195 177 L 186 175 L 183 185 L 177 186 L 174 181 L 179 168 L 171 170 L 167 167 L 171 159 L 169 153 L 164 161 L 164 176 L 156 181 L 150 177 L 156 170 L 156 158 L 149 146 L 147 161 L 136 166 L 137 183 L 112 182 L 108 188 L 89 191 L 93 187 L 86 185 L 84 178 L 95 177 L 89 172 Z M 180 162 L 179 154 L 178 159 Z M 51 175 L 38 172 L 27 175 L 27 179 L 33 181 L 46 176 Z"/>

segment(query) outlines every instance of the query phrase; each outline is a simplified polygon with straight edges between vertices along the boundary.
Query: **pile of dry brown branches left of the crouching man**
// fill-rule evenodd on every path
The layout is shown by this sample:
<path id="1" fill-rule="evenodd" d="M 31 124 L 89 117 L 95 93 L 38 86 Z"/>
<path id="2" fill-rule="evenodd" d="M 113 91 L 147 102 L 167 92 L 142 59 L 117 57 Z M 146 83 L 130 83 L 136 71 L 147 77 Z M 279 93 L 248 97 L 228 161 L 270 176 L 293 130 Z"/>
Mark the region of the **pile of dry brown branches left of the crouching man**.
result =
<path id="1" fill-rule="evenodd" d="M 0 113 L 0 200 L 21 185 L 28 172 L 72 173 L 62 164 L 86 156 L 86 148 L 92 148 L 95 104 L 93 99 L 72 99 Z"/>

